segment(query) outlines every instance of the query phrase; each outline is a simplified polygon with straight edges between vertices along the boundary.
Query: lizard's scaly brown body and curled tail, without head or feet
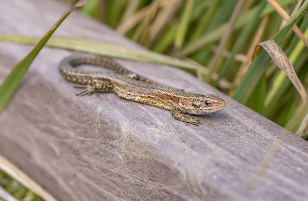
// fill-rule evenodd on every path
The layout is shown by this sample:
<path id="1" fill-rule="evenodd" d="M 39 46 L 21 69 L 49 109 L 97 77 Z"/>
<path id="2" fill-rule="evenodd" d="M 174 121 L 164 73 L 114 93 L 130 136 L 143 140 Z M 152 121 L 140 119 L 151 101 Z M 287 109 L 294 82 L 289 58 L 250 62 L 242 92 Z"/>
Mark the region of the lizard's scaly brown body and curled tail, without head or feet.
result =
<path id="1" fill-rule="evenodd" d="M 114 72 L 75 68 L 80 64 L 99 65 Z M 99 55 L 73 54 L 62 60 L 59 71 L 71 82 L 95 86 L 97 92 L 114 92 L 121 98 L 168 110 L 179 107 L 179 103 L 185 104 L 187 101 L 192 101 L 199 95 L 159 85 L 127 70 L 111 58 Z"/>

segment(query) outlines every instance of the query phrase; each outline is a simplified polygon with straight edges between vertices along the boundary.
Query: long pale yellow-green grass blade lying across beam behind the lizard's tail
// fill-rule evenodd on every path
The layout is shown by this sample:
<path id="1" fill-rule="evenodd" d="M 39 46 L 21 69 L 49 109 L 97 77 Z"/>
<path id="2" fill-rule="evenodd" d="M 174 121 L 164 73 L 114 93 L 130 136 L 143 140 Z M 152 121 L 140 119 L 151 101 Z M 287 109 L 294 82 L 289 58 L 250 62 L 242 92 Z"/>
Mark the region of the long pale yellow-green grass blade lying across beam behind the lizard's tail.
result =
<path id="1" fill-rule="evenodd" d="M 37 43 L 38 38 L 0 35 L 0 41 L 1 40 L 32 45 Z M 144 49 L 136 49 L 132 47 L 125 47 L 89 39 L 52 37 L 46 43 L 46 46 L 75 50 L 75 51 L 90 52 L 93 54 L 134 60 L 134 61 L 166 64 L 185 69 L 195 70 L 198 67 L 197 64 L 193 64 L 191 62 L 183 61 L 180 59 L 175 59 L 170 56 L 162 55 L 156 52 L 144 51 Z"/>

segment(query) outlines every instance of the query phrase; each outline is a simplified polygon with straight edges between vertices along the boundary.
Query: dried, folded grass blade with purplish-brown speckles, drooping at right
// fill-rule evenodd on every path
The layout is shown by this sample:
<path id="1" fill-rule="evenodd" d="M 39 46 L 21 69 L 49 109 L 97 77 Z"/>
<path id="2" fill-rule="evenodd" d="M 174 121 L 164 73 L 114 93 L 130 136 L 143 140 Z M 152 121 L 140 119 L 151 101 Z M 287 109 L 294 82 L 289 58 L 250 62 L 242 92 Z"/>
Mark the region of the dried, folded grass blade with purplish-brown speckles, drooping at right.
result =
<path id="1" fill-rule="evenodd" d="M 301 81 L 298 79 L 298 76 L 296 75 L 294 68 L 290 63 L 289 59 L 287 58 L 287 56 L 285 55 L 285 53 L 283 53 L 283 51 L 275 43 L 274 40 L 267 40 L 258 43 L 254 57 L 256 56 L 256 53 L 258 52 L 257 49 L 260 46 L 263 47 L 269 53 L 269 55 L 272 57 L 277 66 L 286 73 L 286 75 L 289 77 L 290 81 L 298 91 L 299 95 L 301 96 L 302 100 L 306 102 L 307 93 L 305 91 L 305 88 L 302 85 Z"/>

